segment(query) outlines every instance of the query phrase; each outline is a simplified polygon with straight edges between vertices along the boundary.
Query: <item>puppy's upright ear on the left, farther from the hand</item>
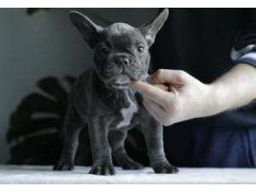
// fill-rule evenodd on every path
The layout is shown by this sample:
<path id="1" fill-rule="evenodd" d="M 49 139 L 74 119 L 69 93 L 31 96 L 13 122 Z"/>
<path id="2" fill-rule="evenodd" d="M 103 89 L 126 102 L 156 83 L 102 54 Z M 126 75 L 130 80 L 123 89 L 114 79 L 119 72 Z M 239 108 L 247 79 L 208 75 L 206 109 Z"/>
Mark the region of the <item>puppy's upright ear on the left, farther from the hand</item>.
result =
<path id="1" fill-rule="evenodd" d="M 84 40 L 88 42 L 92 48 L 97 34 L 102 31 L 102 26 L 96 25 L 88 17 L 78 11 L 71 11 L 69 18 L 73 22 L 73 25 L 82 33 Z"/>

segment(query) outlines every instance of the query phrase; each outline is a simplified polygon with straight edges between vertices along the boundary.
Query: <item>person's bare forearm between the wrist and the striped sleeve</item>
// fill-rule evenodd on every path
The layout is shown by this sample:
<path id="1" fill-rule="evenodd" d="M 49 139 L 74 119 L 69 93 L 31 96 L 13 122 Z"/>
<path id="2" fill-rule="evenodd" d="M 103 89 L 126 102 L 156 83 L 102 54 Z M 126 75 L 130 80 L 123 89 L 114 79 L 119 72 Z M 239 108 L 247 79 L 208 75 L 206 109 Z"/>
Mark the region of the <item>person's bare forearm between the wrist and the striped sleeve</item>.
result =
<path id="1" fill-rule="evenodd" d="M 238 64 L 210 86 L 212 114 L 240 108 L 256 99 L 256 68 Z"/>

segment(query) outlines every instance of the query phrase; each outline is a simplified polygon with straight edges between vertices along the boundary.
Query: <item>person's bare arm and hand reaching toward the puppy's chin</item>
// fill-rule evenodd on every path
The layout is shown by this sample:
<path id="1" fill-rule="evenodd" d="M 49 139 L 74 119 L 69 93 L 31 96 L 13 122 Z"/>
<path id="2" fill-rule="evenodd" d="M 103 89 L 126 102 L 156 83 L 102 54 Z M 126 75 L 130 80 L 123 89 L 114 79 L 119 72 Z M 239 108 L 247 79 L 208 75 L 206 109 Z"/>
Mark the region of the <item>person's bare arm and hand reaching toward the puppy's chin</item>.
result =
<path id="1" fill-rule="evenodd" d="M 256 68 L 247 64 L 236 65 L 212 84 L 164 69 L 148 83 L 135 82 L 131 88 L 143 95 L 145 108 L 163 125 L 240 108 L 256 99 Z"/>

